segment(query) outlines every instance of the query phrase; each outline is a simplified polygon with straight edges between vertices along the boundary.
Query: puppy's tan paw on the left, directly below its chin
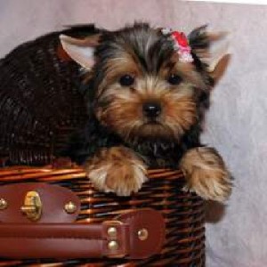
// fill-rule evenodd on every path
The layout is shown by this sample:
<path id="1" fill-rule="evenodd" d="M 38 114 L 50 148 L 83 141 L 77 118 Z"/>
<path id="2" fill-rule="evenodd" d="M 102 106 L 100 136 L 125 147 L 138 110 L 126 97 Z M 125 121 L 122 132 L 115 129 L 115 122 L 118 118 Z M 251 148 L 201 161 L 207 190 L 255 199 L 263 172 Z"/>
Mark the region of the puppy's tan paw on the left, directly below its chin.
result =
<path id="1" fill-rule="evenodd" d="M 101 149 L 86 162 L 85 171 L 97 190 L 117 196 L 130 196 L 148 180 L 142 159 L 125 147 Z"/>

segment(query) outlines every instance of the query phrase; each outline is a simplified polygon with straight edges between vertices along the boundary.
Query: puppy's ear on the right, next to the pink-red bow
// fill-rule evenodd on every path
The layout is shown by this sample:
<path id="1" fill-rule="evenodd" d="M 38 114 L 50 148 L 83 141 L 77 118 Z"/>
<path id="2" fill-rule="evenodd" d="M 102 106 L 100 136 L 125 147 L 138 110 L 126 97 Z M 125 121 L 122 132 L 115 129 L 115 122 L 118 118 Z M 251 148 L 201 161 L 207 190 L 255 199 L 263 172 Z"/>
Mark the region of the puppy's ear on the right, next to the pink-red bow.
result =
<path id="1" fill-rule="evenodd" d="M 210 76 L 218 82 L 231 59 L 230 35 L 227 32 L 209 33 L 206 26 L 202 26 L 190 33 L 189 40 L 192 53 L 206 64 Z"/>

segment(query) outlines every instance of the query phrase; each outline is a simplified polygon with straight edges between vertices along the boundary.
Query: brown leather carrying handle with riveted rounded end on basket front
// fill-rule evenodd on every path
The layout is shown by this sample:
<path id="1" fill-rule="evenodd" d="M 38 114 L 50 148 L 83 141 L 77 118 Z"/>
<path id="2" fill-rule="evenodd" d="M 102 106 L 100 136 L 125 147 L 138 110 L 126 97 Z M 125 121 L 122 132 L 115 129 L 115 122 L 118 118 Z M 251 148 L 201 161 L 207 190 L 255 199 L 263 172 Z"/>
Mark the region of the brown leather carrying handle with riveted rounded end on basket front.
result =
<path id="1" fill-rule="evenodd" d="M 142 259 L 158 254 L 165 241 L 162 215 L 130 211 L 114 221 L 86 223 L 0 223 L 0 257 Z"/>

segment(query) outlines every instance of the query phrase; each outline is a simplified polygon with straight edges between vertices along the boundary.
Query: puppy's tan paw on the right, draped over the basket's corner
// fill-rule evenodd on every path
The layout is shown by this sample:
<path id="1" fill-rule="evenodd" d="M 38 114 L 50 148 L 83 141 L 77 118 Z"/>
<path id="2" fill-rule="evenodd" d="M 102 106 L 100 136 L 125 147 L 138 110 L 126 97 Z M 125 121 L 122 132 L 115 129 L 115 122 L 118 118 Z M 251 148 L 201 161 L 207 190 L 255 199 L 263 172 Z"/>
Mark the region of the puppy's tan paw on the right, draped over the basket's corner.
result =
<path id="1" fill-rule="evenodd" d="M 224 201 L 230 197 L 231 174 L 216 150 L 205 147 L 189 150 L 183 156 L 180 167 L 187 179 L 184 190 L 216 201 Z"/>

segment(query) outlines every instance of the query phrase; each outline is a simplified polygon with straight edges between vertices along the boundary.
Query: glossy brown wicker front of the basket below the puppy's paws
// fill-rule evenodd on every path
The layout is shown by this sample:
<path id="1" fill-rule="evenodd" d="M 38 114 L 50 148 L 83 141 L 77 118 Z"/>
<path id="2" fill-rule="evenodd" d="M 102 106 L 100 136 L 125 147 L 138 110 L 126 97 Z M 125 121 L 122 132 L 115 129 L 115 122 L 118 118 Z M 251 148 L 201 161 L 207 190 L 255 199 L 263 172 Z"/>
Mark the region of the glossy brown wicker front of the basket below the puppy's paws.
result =
<path id="1" fill-rule="evenodd" d="M 80 168 L 53 170 L 9 167 L 1 170 L 0 181 L 1 184 L 33 181 L 56 182 L 68 187 L 81 199 L 82 211 L 77 223 L 101 223 L 103 220 L 121 214 L 124 210 L 139 207 L 161 210 L 166 218 L 166 246 L 160 255 L 148 260 L 134 261 L 134 265 L 131 266 L 204 266 L 203 201 L 197 196 L 181 191 L 184 181 L 180 171 L 151 170 L 149 176 L 150 182 L 145 183 L 138 194 L 129 198 L 118 198 L 111 193 L 95 191 Z M 88 259 L 68 261 L 65 264 L 69 263 L 75 266 L 92 266 L 86 263 L 98 263 L 93 266 L 120 266 L 119 264 L 125 264 L 128 261 Z M 16 264 L 20 266 L 19 262 Z M 34 261 L 24 261 L 21 264 L 21 266 L 25 264 L 36 266 Z"/>

